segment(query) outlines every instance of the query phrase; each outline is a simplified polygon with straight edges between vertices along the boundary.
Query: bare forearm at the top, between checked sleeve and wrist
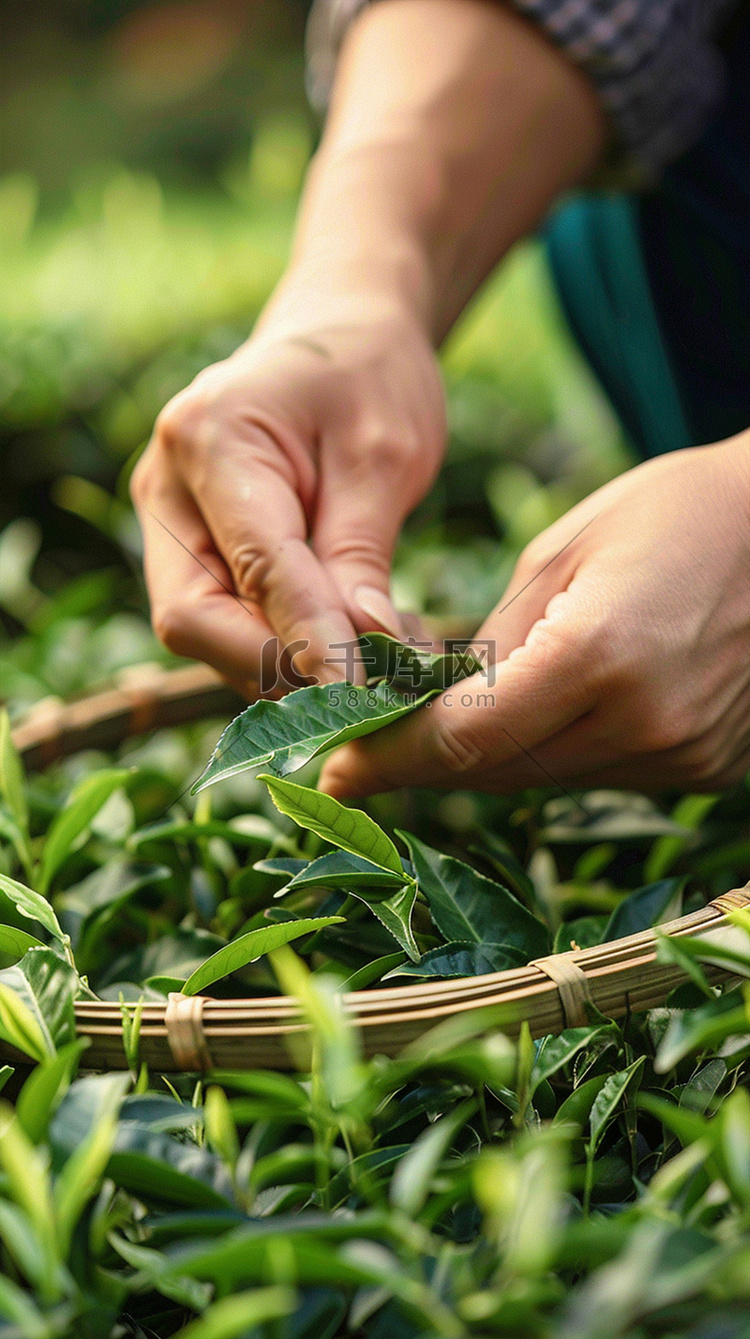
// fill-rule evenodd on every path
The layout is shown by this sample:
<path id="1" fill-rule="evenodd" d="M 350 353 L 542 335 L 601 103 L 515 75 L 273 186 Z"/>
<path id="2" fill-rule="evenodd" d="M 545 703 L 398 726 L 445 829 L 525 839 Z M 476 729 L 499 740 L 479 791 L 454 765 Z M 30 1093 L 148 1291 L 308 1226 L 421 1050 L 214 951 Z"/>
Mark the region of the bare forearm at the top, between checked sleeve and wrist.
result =
<path id="1" fill-rule="evenodd" d="M 368 293 L 406 305 L 439 341 L 603 141 L 585 76 L 501 4 L 374 5 L 344 44 L 271 311 L 296 305 L 299 280 L 312 279 L 339 295 L 342 320 Z"/>

